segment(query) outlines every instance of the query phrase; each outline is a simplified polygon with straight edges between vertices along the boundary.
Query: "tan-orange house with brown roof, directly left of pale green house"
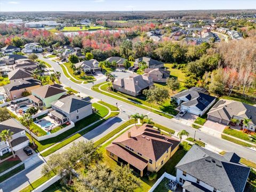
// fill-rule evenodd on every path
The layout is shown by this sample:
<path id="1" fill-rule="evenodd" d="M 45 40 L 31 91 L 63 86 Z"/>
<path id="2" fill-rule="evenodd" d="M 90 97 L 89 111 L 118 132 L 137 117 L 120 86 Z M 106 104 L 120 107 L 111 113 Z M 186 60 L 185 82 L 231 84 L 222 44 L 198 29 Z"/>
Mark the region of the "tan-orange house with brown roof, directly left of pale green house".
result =
<path id="1" fill-rule="evenodd" d="M 37 89 L 41 86 L 41 82 L 37 81 L 36 79 L 17 79 L 7 85 L 4 85 L 4 90 L 9 99 L 19 99 L 22 98 L 22 93 L 28 91 L 31 93 L 32 90 Z"/>

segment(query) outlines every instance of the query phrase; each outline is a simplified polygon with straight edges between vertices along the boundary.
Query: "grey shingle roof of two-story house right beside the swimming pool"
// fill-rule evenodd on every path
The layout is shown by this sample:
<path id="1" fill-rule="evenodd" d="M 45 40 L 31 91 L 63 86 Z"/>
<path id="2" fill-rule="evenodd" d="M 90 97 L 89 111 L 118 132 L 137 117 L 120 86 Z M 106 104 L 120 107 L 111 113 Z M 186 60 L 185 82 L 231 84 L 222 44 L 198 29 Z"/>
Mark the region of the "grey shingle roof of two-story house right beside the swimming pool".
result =
<path id="1" fill-rule="evenodd" d="M 68 95 L 67 97 L 59 99 L 58 101 L 54 101 L 52 103 L 52 105 L 60 108 L 67 113 L 72 113 L 73 111 L 81 109 L 90 104 L 91 102 L 85 101 L 75 95 Z"/>

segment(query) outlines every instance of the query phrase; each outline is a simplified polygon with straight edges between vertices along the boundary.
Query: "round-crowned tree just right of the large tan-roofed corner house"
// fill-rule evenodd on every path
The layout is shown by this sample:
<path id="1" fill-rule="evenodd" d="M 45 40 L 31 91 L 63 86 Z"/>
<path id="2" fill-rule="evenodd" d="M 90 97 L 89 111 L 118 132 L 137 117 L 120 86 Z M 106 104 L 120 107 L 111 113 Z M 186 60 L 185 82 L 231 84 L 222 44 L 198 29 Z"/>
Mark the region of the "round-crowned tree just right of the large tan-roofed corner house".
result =
<path id="1" fill-rule="evenodd" d="M 148 90 L 143 90 L 143 94 L 146 95 L 148 102 L 156 102 L 157 104 L 162 103 L 169 98 L 169 91 L 157 86 L 150 87 Z"/>

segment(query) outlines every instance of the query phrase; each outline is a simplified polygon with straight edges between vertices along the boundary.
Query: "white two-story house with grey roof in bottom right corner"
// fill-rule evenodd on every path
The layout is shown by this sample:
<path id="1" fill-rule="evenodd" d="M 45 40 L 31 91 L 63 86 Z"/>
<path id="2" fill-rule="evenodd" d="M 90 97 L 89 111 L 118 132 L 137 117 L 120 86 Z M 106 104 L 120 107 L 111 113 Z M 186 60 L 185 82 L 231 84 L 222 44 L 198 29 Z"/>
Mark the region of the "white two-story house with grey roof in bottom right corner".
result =
<path id="1" fill-rule="evenodd" d="M 176 181 L 183 191 L 243 192 L 250 168 L 235 153 L 224 156 L 193 145 L 180 162 Z"/>

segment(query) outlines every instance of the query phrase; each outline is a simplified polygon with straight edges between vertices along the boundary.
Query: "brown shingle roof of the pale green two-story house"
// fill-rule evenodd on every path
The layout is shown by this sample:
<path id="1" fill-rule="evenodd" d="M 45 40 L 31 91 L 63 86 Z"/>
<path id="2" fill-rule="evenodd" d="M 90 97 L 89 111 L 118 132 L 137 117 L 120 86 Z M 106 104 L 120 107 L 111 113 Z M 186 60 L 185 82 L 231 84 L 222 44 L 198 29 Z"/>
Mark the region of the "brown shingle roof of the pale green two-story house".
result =
<path id="1" fill-rule="evenodd" d="M 39 95 L 41 98 L 48 98 L 53 95 L 57 95 L 59 93 L 66 92 L 63 89 L 60 89 L 55 86 L 50 86 L 50 85 L 44 85 L 42 87 L 39 87 L 37 89 L 32 90 L 32 93 L 35 93 L 36 95 Z"/>

